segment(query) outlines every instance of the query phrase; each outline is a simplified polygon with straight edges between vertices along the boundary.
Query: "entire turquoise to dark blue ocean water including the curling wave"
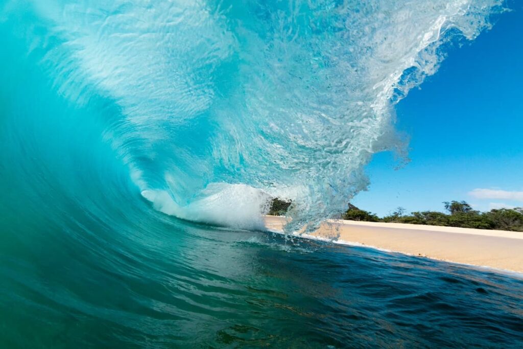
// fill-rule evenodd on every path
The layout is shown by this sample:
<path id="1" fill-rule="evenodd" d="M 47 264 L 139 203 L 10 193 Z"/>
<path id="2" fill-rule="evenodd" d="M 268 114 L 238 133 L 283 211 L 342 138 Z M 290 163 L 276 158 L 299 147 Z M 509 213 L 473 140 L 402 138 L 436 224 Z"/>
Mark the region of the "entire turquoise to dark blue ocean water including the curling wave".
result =
<path id="1" fill-rule="evenodd" d="M 523 347 L 521 275 L 261 219 L 405 159 L 395 104 L 503 6 L 0 1 L 0 347 Z"/>

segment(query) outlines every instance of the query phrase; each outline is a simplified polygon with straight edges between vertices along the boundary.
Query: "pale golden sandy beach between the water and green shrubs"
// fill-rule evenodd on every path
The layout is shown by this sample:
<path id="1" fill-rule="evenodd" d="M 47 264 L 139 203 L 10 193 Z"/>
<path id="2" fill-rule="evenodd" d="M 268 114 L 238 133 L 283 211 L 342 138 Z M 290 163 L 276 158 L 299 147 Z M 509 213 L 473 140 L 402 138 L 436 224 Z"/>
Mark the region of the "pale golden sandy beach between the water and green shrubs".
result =
<path id="1" fill-rule="evenodd" d="M 282 231 L 285 217 L 265 217 Z M 523 273 L 523 232 L 328 220 L 310 234 L 392 252 Z"/>

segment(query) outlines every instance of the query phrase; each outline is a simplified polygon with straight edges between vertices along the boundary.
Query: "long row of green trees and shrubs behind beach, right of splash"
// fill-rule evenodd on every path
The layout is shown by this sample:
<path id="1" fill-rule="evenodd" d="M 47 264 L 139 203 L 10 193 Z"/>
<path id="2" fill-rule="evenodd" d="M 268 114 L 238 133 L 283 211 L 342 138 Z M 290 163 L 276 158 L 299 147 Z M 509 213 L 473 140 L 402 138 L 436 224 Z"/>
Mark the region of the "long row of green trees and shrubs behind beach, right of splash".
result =
<path id="1" fill-rule="evenodd" d="M 499 229 L 523 231 L 523 208 L 493 209 L 489 212 L 473 210 L 465 201 L 444 202 L 448 213 L 438 211 L 411 212 L 405 215 L 405 209 L 398 207 L 391 215 L 378 218 L 371 212 L 361 210 L 349 204 L 343 218 L 368 222 L 395 222 L 409 224 L 427 224 L 430 226 Z"/>

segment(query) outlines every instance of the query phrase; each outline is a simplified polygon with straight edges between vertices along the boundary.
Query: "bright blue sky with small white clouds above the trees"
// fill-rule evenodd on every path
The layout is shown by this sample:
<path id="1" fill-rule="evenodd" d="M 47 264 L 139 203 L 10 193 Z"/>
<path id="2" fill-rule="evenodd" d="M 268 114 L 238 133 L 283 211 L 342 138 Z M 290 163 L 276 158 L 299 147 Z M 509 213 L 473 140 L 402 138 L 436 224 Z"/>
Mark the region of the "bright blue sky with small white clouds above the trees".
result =
<path id="1" fill-rule="evenodd" d="M 394 170 L 391 153 L 375 155 L 369 190 L 353 204 L 380 216 L 398 206 L 443 210 L 449 200 L 482 211 L 523 206 L 523 4 L 508 5 L 396 106 L 411 162 Z"/>

